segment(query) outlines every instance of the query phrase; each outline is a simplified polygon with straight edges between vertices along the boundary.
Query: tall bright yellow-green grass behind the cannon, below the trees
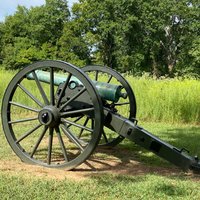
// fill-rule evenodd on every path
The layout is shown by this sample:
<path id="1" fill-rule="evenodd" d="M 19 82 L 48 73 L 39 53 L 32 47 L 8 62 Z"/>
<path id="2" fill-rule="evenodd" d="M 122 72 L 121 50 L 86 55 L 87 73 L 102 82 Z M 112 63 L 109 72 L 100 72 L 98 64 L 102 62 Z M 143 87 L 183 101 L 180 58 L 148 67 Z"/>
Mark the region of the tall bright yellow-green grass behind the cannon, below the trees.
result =
<path id="1" fill-rule="evenodd" d="M 0 70 L 0 102 L 6 86 L 16 72 Z M 170 123 L 200 121 L 200 81 L 125 76 L 137 101 L 137 119 Z M 25 97 L 19 97 L 25 98 Z M 26 98 L 24 101 L 27 101 Z"/>

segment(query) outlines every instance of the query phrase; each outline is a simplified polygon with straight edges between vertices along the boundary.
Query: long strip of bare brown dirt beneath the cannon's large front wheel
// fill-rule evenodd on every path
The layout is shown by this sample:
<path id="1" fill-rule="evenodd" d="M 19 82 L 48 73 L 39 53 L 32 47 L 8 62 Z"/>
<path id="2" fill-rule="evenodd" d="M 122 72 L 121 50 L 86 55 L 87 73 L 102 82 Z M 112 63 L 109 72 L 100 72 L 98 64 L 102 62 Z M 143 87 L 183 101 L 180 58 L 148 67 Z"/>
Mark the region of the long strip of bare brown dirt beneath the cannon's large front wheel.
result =
<path id="1" fill-rule="evenodd" d="M 145 175 L 148 173 L 158 173 L 162 175 L 178 174 L 176 169 L 158 168 L 144 166 L 141 163 L 132 161 L 130 163 L 121 163 L 117 160 L 91 159 L 80 165 L 72 171 L 65 169 L 49 169 L 36 165 L 28 165 L 20 161 L 1 161 L 0 171 L 13 174 L 23 173 L 25 175 L 37 176 L 42 178 L 51 178 L 64 180 L 67 178 L 74 180 L 84 180 L 90 176 L 101 175 L 102 173 L 120 174 L 120 175 Z"/>

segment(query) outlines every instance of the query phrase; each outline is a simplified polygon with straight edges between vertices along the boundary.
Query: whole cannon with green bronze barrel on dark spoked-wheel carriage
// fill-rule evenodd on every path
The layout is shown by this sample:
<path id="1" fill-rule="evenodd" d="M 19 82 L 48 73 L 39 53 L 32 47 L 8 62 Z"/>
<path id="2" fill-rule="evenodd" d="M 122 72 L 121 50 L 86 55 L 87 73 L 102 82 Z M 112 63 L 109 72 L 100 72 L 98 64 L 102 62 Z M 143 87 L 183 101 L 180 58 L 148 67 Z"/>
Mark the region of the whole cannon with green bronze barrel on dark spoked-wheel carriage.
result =
<path id="1" fill-rule="evenodd" d="M 97 146 L 127 138 L 183 170 L 200 171 L 197 156 L 138 126 L 134 92 L 110 68 L 35 62 L 9 83 L 1 117 L 9 145 L 29 164 L 71 170 Z"/>

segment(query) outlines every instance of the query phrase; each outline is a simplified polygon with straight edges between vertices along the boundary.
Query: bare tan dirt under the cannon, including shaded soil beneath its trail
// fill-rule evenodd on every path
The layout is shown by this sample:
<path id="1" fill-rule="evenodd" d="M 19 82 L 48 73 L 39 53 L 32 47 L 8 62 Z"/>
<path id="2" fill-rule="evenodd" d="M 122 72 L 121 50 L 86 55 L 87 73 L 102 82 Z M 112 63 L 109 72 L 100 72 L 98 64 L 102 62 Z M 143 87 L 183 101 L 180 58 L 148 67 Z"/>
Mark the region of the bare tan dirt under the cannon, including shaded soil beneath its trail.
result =
<path id="1" fill-rule="evenodd" d="M 109 153 L 115 150 L 106 150 Z M 200 176 L 193 175 L 192 173 L 183 173 L 180 169 L 175 167 L 157 167 L 150 166 L 146 163 L 141 163 L 133 158 L 133 155 L 128 150 L 120 151 L 124 156 L 107 156 L 102 158 L 94 154 L 89 160 L 77 167 L 72 171 L 65 169 L 49 169 L 36 165 L 28 165 L 16 159 L 14 161 L 0 161 L 0 171 L 9 172 L 11 174 L 21 174 L 41 177 L 47 179 L 73 179 L 81 181 L 88 179 L 92 176 L 102 174 L 115 174 L 115 175 L 130 175 L 140 176 L 146 174 L 158 174 L 162 176 L 188 176 L 189 178 L 200 180 Z M 118 152 L 119 154 L 119 152 Z M 126 156 L 125 156 L 126 155 Z"/>

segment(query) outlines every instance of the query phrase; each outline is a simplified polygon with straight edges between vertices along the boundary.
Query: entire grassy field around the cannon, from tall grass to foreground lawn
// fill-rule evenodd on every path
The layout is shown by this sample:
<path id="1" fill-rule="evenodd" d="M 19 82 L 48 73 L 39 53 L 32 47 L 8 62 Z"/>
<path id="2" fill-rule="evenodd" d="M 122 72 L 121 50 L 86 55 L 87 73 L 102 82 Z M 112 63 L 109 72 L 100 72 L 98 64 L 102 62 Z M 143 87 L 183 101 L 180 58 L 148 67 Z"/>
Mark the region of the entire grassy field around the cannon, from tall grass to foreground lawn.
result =
<path id="1" fill-rule="evenodd" d="M 13 74 L 0 71 L 0 99 Z M 200 156 L 199 81 L 127 80 L 137 98 L 139 125 Z M 93 160 L 96 170 L 24 165 L 9 147 L 0 123 L 0 199 L 200 199 L 199 175 L 184 173 L 128 140 L 113 149 L 97 149 L 89 159 Z"/>

